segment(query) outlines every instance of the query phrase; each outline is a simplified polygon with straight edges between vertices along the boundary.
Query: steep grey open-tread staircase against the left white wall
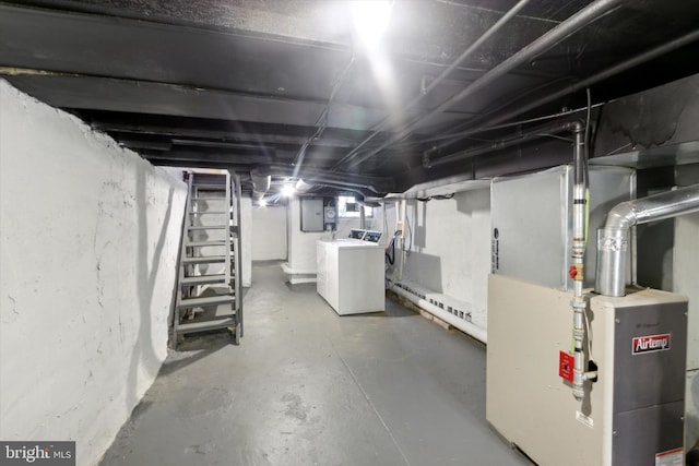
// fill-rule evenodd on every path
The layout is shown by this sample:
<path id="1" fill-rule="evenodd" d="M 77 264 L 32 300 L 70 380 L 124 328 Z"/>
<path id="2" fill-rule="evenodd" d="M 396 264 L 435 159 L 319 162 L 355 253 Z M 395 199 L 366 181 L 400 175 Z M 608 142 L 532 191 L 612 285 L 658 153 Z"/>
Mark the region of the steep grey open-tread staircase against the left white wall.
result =
<path id="1" fill-rule="evenodd" d="M 240 295 L 240 179 L 188 172 L 173 322 L 173 345 L 194 332 L 229 328 L 242 336 Z M 232 182 L 233 181 L 233 182 Z"/>

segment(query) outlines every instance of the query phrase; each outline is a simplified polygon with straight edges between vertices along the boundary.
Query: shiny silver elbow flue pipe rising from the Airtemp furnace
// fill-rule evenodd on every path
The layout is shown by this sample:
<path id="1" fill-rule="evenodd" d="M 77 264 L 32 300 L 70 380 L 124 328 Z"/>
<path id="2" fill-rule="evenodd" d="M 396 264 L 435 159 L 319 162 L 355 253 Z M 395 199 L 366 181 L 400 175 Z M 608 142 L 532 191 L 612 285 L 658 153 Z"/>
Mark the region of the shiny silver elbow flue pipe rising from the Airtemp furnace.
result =
<path id="1" fill-rule="evenodd" d="M 699 184 L 623 202 L 609 211 L 605 226 L 597 231 L 595 291 L 605 296 L 625 295 L 625 264 L 632 226 L 692 212 L 699 212 Z"/>

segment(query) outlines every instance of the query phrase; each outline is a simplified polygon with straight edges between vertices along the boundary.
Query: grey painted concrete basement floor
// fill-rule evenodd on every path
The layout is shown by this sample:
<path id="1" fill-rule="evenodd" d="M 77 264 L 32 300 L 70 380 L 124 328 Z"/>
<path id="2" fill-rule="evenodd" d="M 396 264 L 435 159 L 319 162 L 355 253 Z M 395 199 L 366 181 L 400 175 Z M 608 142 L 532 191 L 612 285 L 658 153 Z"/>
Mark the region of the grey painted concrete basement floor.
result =
<path id="1" fill-rule="evenodd" d="M 485 348 L 387 300 L 340 318 L 256 263 L 240 346 L 190 337 L 102 466 L 529 465 L 485 420 Z"/>

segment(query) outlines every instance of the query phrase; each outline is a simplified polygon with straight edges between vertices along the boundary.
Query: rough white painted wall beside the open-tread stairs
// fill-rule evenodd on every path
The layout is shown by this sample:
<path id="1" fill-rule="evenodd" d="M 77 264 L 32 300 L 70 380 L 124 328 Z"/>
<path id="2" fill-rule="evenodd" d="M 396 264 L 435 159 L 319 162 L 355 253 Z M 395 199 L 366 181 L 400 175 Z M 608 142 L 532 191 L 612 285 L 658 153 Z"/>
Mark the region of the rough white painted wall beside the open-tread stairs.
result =
<path id="1" fill-rule="evenodd" d="M 0 81 L 0 438 L 98 462 L 167 354 L 185 198 Z"/>

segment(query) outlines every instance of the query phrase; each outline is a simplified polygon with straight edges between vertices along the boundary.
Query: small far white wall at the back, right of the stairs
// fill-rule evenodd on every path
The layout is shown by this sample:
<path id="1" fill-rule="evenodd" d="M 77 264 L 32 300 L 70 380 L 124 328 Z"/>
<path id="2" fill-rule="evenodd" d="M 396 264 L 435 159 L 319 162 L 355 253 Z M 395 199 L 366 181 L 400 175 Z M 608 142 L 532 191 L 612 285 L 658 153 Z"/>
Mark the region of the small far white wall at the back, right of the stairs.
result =
<path id="1" fill-rule="evenodd" d="M 252 207 L 252 260 L 286 260 L 286 206 Z"/>

